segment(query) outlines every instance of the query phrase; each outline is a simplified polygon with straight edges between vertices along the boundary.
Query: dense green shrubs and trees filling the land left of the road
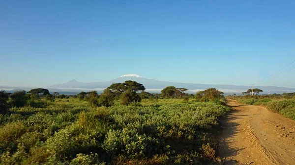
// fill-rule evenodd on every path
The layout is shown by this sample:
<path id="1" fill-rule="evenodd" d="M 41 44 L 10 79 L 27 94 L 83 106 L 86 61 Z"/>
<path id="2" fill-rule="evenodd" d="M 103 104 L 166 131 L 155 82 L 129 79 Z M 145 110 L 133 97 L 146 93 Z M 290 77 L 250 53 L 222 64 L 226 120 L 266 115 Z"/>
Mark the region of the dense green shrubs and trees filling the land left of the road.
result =
<path id="1" fill-rule="evenodd" d="M 138 88 L 137 88 L 138 87 Z M 220 161 L 214 138 L 230 109 L 217 90 L 207 102 L 113 84 L 103 94 L 0 92 L 2 165 L 206 165 Z M 182 92 L 181 92 L 182 91 Z M 217 98 L 209 101 L 212 94 Z M 161 98 L 159 98 L 161 97 Z M 179 99 L 183 98 L 183 99 Z M 216 101 L 218 100 L 218 101 Z"/>

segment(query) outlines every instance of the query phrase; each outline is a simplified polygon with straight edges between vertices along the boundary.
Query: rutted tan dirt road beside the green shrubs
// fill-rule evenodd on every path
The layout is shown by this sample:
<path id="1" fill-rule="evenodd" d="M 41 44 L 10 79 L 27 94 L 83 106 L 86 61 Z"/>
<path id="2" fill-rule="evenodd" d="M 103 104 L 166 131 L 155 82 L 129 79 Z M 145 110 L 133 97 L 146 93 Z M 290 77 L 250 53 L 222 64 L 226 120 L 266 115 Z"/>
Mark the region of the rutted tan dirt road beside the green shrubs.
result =
<path id="1" fill-rule="evenodd" d="M 219 153 L 224 165 L 295 165 L 295 121 L 228 100 Z"/>

